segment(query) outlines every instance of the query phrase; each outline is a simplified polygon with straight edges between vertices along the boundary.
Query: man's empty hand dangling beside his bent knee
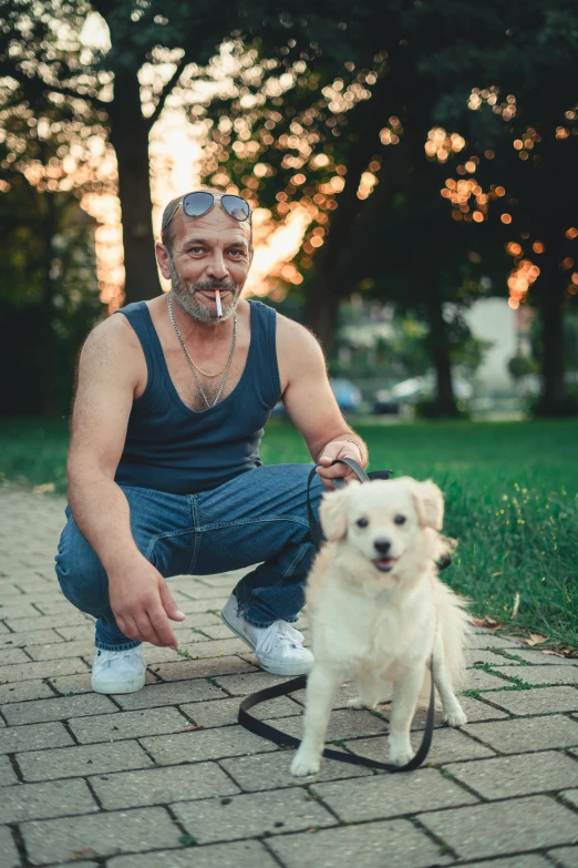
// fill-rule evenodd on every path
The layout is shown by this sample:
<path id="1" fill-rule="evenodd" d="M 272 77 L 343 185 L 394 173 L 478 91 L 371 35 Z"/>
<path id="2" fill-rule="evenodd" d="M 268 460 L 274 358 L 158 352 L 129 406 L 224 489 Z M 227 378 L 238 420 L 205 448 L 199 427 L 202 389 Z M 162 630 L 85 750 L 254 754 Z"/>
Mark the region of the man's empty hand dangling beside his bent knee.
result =
<path id="1" fill-rule="evenodd" d="M 138 555 L 128 566 L 109 571 L 111 609 L 125 636 L 176 649 L 168 619 L 184 621 L 168 586 L 152 563 Z"/>

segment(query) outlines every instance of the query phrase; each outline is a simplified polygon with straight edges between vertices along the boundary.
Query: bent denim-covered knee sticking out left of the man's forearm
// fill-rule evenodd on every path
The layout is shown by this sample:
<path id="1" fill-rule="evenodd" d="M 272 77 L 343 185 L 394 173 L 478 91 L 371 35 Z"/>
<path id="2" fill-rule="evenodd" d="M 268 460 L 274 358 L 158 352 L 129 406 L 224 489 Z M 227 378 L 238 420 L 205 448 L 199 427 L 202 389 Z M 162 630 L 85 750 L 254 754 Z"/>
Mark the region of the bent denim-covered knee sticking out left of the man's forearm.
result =
<path id="1" fill-rule="evenodd" d="M 60 538 L 55 570 L 62 593 L 76 609 L 96 617 L 109 605 L 106 572 L 72 517 Z"/>

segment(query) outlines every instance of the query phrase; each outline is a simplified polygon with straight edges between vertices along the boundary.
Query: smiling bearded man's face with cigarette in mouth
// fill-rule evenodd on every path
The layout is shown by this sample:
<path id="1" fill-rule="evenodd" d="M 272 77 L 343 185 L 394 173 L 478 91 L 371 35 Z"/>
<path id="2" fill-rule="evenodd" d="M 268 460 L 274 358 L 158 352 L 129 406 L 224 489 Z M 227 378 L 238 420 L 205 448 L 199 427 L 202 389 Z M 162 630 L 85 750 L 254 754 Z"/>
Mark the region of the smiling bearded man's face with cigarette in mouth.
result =
<path id="1" fill-rule="evenodd" d="M 217 201 L 202 217 L 187 217 L 178 207 L 171 223 L 172 246 L 157 244 L 164 277 L 175 299 L 200 323 L 223 323 L 235 312 L 252 259 L 249 223 L 230 217 Z M 220 292 L 223 316 L 217 316 L 215 289 Z"/>

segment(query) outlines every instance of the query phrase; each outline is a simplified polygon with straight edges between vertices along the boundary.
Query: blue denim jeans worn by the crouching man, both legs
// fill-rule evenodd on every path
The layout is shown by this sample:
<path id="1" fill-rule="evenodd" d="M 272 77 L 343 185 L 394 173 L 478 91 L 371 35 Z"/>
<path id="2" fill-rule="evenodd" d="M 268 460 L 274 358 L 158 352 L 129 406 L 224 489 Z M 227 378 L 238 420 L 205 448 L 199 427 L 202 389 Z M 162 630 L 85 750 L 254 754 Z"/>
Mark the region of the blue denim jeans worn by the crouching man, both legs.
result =
<path id="1" fill-rule="evenodd" d="M 310 470 L 310 464 L 259 467 L 199 494 L 123 487 L 136 545 L 165 578 L 210 575 L 264 561 L 235 588 L 241 615 L 256 626 L 297 621 L 314 555 L 306 497 Z M 322 491 L 316 478 L 316 512 Z M 69 507 L 65 512 L 55 558 L 64 596 L 96 619 L 96 647 L 135 647 L 140 643 L 125 636 L 114 620 L 104 568 Z"/>

